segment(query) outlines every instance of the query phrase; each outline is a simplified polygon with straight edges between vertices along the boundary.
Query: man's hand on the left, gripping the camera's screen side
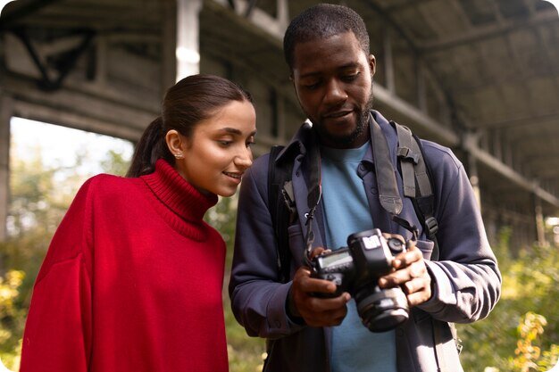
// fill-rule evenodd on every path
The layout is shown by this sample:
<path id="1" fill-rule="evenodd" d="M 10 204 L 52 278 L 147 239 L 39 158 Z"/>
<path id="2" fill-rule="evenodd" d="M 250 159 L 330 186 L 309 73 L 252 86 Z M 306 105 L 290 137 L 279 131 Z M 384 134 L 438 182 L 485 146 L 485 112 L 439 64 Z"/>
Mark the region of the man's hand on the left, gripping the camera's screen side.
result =
<path id="1" fill-rule="evenodd" d="M 319 298 L 311 294 L 318 292 L 334 293 L 336 285 L 328 280 L 311 277 L 308 268 L 297 269 L 288 299 L 292 315 L 303 318 L 311 327 L 338 326 L 346 317 L 346 303 L 351 296 L 346 292 L 333 298 Z"/>

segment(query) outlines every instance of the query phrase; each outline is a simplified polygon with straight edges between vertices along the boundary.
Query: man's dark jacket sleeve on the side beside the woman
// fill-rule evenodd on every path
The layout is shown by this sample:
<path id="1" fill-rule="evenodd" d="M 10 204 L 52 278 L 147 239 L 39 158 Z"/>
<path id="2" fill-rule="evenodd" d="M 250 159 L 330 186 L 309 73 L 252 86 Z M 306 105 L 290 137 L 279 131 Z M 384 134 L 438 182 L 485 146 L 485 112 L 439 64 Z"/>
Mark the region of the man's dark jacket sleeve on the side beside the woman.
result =
<path id="1" fill-rule="evenodd" d="M 280 283 L 277 250 L 268 211 L 268 155 L 254 161 L 238 198 L 235 253 L 229 280 L 231 307 L 251 336 L 279 338 L 301 329 L 286 313 L 291 282 Z"/>

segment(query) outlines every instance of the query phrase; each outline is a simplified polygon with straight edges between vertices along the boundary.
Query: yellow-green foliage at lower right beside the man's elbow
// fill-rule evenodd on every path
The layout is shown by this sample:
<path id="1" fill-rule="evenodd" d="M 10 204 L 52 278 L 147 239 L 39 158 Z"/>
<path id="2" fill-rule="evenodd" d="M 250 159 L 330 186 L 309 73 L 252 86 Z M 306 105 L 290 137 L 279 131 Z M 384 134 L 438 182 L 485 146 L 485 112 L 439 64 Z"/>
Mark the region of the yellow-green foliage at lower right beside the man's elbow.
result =
<path id="1" fill-rule="evenodd" d="M 496 368 L 494 370 L 521 371 L 511 365 L 510 355 L 521 343 L 535 347 L 536 336 L 538 348 L 544 352 L 531 360 L 541 366 L 540 369 L 526 370 L 546 371 L 557 355 L 559 286 L 556 284 L 559 266 L 556 262 L 559 261 L 559 250 L 534 245 L 513 258 L 508 251 L 508 236 L 508 232 L 503 231 L 501 244 L 494 247 L 503 274 L 500 301 L 487 319 L 471 325 L 458 325 L 464 345 L 460 357 L 467 371 L 482 371 L 488 366 Z M 545 324 L 545 333 L 534 334 L 543 331 Z M 520 357 L 517 356 L 516 360 L 519 365 L 524 365 Z"/>

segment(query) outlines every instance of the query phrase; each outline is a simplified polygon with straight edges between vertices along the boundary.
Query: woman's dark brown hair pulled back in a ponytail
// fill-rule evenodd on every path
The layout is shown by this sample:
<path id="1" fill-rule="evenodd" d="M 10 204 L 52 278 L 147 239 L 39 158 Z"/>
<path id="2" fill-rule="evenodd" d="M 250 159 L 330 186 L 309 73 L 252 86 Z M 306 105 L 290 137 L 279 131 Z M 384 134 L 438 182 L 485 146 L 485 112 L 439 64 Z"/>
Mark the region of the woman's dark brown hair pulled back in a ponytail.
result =
<path id="1" fill-rule="evenodd" d="M 165 136 L 175 129 L 182 136 L 192 136 L 196 125 L 210 118 L 231 101 L 253 103 L 251 95 L 237 84 L 214 75 L 191 75 L 179 80 L 163 98 L 162 114 L 146 128 L 140 138 L 126 177 L 154 172 L 155 162 L 175 158 L 169 151 Z"/>

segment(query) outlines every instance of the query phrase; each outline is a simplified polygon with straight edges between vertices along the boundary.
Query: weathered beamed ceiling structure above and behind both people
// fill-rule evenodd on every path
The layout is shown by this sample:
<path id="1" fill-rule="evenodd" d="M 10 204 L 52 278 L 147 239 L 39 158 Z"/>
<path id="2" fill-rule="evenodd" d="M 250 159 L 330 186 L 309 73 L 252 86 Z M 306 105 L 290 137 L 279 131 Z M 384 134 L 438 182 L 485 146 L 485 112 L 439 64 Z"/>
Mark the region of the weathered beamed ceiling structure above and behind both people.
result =
<path id="1" fill-rule="evenodd" d="M 87 54 L 88 43 L 102 38 L 141 56 L 141 63 L 154 71 L 137 77 L 128 65 L 113 63 L 108 73 L 103 72 L 104 79 L 133 81 L 135 92 L 159 97 L 165 86 L 160 79 L 162 61 L 172 55 L 165 40 L 174 41 L 166 21 L 174 16 L 171 3 L 17 0 L 4 9 L 0 32 L 20 40 L 59 40 L 50 50 L 37 51 L 39 56 L 50 55 L 44 71 L 38 69 L 43 88 L 54 91 L 63 84 L 72 63 L 82 65 L 87 80 L 88 61 L 96 58 Z M 239 62 L 293 98 L 281 37 L 289 19 L 317 2 L 202 3 L 202 68 L 204 55 Z M 378 62 L 376 108 L 420 136 L 452 147 L 468 170 L 478 174 L 482 198 L 491 207 L 521 213 L 540 205 L 546 215 L 558 214 L 559 17 L 552 4 L 543 0 L 332 3 L 354 8 L 367 23 L 371 53 Z M 56 48 L 68 53 L 56 54 Z M 80 58 L 72 59 L 69 51 Z M 119 54 L 111 58 L 118 61 Z M 95 75 L 102 67 L 92 63 L 89 73 Z M 119 99 L 139 112 L 157 110 L 153 104 L 157 100 Z"/>

